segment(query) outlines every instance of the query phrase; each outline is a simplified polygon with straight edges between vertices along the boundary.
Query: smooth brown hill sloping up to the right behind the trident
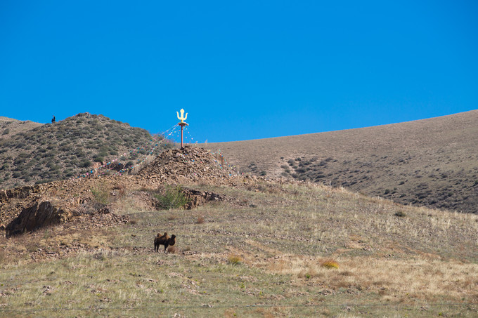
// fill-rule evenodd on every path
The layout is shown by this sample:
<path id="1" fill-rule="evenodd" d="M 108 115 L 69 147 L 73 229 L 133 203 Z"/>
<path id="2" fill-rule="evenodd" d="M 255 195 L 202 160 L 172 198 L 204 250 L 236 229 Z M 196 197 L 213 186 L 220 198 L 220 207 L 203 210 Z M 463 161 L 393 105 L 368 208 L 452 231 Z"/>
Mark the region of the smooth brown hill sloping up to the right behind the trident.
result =
<path id="1" fill-rule="evenodd" d="M 347 131 L 208 143 L 239 171 L 477 213 L 478 110 Z"/>

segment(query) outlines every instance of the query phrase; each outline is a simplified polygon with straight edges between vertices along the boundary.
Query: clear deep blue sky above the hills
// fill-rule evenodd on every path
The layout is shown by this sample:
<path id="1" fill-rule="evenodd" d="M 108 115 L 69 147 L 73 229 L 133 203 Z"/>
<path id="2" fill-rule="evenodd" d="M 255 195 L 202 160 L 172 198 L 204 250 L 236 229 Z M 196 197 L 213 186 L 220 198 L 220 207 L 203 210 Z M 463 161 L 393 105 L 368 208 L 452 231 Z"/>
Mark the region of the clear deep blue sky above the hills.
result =
<path id="1" fill-rule="evenodd" d="M 478 1 L 0 1 L 0 116 L 200 143 L 478 108 Z"/>

